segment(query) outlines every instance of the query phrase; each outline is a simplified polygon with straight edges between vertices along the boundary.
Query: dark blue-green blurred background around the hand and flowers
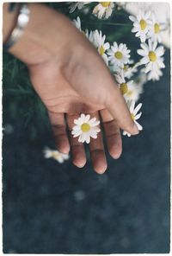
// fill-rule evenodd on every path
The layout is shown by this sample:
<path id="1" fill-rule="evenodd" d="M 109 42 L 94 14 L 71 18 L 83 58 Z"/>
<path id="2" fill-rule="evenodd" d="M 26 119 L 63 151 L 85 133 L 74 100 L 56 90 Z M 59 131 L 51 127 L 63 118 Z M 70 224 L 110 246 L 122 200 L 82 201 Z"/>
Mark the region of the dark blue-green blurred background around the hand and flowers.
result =
<path id="1" fill-rule="evenodd" d="M 66 3 L 47 5 L 69 15 Z M 79 10 L 70 17 L 77 15 L 107 41 L 139 47 L 130 25 L 110 24 L 128 22 L 125 10 L 109 24 Z M 119 160 L 107 153 L 100 176 L 90 160 L 77 169 L 44 157 L 45 146 L 55 149 L 46 110 L 27 67 L 3 54 L 3 253 L 169 253 L 168 48 L 164 57 L 163 77 L 139 99 L 144 131 L 123 137 Z"/>

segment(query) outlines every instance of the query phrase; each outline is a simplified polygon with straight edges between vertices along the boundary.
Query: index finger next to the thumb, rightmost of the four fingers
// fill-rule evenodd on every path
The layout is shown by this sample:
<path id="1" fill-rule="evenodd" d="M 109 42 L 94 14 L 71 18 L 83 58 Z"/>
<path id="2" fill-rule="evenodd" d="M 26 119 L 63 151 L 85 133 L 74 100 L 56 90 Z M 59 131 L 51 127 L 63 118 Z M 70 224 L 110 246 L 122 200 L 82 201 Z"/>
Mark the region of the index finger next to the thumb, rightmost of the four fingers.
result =
<path id="1" fill-rule="evenodd" d="M 101 120 L 104 127 L 107 149 L 111 157 L 119 158 L 122 152 L 120 128 L 107 109 L 101 110 Z"/>

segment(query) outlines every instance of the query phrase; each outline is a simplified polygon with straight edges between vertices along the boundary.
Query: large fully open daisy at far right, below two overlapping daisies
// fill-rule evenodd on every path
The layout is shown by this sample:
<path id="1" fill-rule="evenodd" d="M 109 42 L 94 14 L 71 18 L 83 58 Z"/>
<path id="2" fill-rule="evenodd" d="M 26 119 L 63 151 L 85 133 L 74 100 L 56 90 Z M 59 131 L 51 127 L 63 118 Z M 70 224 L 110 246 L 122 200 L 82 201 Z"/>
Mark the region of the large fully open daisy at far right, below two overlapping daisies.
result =
<path id="1" fill-rule="evenodd" d="M 162 57 L 164 54 L 163 46 L 157 48 L 157 42 L 151 42 L 151 40 L 148 40 L 148 44 L 141 43 L 140 46 L 142 49 L 138 49 L 137 52 L 143 56 L 140 62 L 146 65 L 144 72 L 153 71 L 159 73 L 159 69 L 165 67 Z"/>

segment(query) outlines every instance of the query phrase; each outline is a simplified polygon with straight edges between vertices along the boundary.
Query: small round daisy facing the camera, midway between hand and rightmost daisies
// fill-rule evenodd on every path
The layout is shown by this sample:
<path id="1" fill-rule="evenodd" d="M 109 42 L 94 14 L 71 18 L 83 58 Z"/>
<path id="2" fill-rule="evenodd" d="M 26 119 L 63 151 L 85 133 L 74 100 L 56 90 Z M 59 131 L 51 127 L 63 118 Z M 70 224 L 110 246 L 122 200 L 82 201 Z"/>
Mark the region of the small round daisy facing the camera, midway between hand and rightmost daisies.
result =
<path id="1" fill-rule="evenodd" d="M 114 45 L 107 51 L 108 60 L 114 67 L 124 67 L 129 61 L 129 53 L 130 50 L 126 47 L 126 43 L 120 43 L 118 46 L 117 42 L 114 42 Z"/>

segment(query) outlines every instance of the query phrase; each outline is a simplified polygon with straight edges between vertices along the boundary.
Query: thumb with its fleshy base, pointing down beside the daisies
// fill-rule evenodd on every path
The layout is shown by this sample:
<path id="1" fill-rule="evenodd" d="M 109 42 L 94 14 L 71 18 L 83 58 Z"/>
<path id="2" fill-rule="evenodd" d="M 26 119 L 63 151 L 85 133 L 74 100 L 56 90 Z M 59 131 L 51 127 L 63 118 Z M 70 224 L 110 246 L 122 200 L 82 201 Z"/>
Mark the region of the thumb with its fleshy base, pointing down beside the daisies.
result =
<path id="1" fill-rule="evenodd" d="M 138 134 L 138 127 L 132 121 L 126 101 L 120 93 L 120 87 L 114 81 L 101 56 L 95 48 L 89 47 L 86 53 L 84 49 L 82 50 L 83 54 L 79 54 L 77 61 L 73 63 L 71 61 L 69 65 L 71 67 L 67 68 L 66 77 L 69 83 L 89 102 L 105 106 L 122 130 L 132 135 Z M 70 70 L 72 72 L 69 72 Z"/>

